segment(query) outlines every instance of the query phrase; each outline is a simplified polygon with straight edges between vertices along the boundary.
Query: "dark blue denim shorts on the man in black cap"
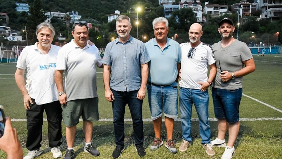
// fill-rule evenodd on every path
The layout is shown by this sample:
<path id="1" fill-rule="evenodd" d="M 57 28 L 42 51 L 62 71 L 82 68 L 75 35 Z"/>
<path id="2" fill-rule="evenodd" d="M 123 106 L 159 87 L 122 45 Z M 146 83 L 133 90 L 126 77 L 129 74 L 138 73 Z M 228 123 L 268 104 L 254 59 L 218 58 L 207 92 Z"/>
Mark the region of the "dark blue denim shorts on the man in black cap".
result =
<path id="1" fill-rule="evenodd" d="M 239 105 L 243 89 L 219 89 L 212 87 L 214 114 L 217 119 L 226 119 L 230 124 L 239 121 Z"/>

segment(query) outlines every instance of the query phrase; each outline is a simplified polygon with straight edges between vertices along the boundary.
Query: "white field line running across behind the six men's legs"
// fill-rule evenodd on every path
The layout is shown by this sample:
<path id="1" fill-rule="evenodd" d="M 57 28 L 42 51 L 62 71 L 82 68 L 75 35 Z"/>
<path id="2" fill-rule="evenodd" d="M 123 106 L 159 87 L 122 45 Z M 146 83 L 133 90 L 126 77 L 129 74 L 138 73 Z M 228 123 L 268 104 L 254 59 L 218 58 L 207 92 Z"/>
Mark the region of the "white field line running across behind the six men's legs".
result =
<path id="1" fill-rule="evenodd" d="M 47 121 L 47 119 L 43 119 L 44 121 Z M 199 121 L 198 118 L 192 118 L 192 121 Z M 282 118 L 240 118 L 240 121 L 282 121 Z M 11 121 L 27 121 L 27 119 L 11 119 Z M 82 121 L 82 119 L 79 119 L 79 121 Z M 99 121 L 113 121 L 113 119 L 105 118 L 100 119 Z M 132 121 L 132 119 L 124 119 L 124 121 Z M 143 119 L 143 121 L 152 121 L 152 119 Z M 162 119 L 164 121 L 164 119 Z M 181 121 L 180 118 L 175 119 L 175 121 Z M 209 121 L 217 121 L 216 118 L 209 118 Z"/>

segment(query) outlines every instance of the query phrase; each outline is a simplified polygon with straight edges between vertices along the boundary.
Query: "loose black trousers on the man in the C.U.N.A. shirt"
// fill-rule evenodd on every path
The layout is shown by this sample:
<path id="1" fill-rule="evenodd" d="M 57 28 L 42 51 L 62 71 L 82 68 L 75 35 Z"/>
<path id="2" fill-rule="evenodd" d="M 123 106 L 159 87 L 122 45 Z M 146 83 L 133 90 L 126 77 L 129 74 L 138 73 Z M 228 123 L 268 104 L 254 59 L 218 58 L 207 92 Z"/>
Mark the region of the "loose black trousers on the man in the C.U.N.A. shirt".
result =
<path id="1" fill-rule="evenodd" d="M 49 147 L 60 146 L 62 138 L 62 108 L 59 101 L 37 105 L 32 99 L 30 109 L 27 110 L 27 149 L 37 150 L 41 147 L 43 112 L 45 110 L 48 121 Z"/>

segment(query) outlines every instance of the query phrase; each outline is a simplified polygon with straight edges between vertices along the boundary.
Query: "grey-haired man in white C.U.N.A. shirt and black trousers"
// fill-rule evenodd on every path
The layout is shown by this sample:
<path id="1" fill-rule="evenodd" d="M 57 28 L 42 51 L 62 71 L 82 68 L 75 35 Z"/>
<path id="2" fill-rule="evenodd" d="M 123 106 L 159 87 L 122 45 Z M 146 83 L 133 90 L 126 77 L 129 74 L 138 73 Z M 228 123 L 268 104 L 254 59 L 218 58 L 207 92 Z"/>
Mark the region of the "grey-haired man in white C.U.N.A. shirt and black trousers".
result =
<path id="1" fill-rule="evenodd" d="M 29 150 L 24 159 L 39 156 L 42 141 L 43 112 L 48 121 L 49 147 L 54 158 L 62 156 L 62 108 L 54 81 L 59 46 L 52 45 L 55 29 L 50 23 L 40 23 L 36 28 L 38 42 L 27 46 L 17 61 L 15 79 L 27 110 L 27 144 Z M 27 70 L 26 82 L 24 80 Z"/>

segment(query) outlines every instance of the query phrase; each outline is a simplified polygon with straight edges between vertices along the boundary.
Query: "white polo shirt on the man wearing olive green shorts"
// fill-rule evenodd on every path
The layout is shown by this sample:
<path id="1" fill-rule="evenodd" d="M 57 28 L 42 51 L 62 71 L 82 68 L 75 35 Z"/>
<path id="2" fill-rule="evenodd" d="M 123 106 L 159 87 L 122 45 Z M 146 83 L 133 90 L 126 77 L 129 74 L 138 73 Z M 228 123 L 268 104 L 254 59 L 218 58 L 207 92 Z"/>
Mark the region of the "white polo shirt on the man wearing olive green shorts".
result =
<path id="1" fill-rule="evenodd" d="M 58 53 L 56 70 L 65 70 L 64 88 L 69 100 L 98 97 L 96 65 L 102 59 L 96 46 L 88 43 L 80 48 L 71 40 Z"/>

